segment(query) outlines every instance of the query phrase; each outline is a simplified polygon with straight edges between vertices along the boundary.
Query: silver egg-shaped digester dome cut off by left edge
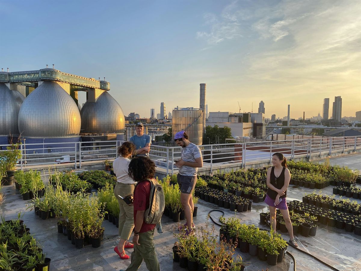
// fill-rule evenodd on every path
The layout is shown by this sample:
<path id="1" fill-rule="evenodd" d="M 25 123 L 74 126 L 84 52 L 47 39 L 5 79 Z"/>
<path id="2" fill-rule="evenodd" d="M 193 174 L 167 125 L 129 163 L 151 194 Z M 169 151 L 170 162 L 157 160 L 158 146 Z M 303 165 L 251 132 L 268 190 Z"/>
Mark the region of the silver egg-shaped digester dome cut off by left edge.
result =
<path id="1" fill-rule="evenodd" d="M 19 134 L 18 115 L 25 97 L 0 84 L 0 135 Z"/>

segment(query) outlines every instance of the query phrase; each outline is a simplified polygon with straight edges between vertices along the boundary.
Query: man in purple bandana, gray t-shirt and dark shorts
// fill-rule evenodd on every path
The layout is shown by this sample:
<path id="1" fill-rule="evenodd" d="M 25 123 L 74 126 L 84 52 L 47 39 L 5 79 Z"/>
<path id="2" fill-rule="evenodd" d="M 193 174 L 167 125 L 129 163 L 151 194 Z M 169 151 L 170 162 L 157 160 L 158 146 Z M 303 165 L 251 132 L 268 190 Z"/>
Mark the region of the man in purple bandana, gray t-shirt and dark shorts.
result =
<path id="1" fill-rule="evenodd" d="M 203 167 L 202 153 L 197 145 L 188 140 L 188 135 L 184 131 L 176 133 L 174 141 L 183 148 L 181 159 L 175 161 L 175 165 L 179 169 L 177 182 L 181 189 L 181 204 L 187 219 L 187 223 L 178 229 L 180 231 L 186 229 L 186 235 L 193 235 L 195 225 L 193 223 L 194 203 L 192 192 L 197 182 L 198 168 Z"/>

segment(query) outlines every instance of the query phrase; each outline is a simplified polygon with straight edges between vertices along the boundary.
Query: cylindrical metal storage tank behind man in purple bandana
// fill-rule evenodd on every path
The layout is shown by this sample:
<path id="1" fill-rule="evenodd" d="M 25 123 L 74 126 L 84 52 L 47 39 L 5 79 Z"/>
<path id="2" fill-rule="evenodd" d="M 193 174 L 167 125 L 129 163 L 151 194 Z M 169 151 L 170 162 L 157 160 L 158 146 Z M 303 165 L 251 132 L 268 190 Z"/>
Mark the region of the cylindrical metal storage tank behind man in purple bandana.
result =
<path id="1" fill-rule="evenodd" d="M 172 112 L 172 137 L 184 130 L 189 141 L 202 145 L 203 141 L 203 110 L 197 108 L 175 108 Z M 173 139 L 172 138 L 172 139 Z"/>

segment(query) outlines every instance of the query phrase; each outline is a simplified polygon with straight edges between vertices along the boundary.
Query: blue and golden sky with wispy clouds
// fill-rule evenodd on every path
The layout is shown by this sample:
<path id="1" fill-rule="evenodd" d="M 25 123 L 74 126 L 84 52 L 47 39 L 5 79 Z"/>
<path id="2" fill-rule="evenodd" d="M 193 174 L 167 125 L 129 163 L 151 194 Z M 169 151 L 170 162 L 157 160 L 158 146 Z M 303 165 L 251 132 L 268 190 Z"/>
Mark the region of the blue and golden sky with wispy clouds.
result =
<path id="1" fill-rule="evenodd" d="M 265 117 L 361 110 L 361 1 L 0 0 L 0 68 L 110 82 L 127 116 L 199 107 Z M 84 103 L 84 93 L 79 101 Z M 253 107 L 252 107 L 253 103 Z"/>

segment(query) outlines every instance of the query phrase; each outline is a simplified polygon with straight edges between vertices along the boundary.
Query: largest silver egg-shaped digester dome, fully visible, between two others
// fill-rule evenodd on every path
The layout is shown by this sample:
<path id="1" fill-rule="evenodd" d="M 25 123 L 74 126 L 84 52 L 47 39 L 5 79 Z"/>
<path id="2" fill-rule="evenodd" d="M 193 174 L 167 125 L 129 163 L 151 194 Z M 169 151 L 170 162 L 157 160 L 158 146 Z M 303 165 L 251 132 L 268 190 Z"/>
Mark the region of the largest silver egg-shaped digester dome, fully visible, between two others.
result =
<path id="1" fill-rule="evenodd" d="M 56 82 L 44 81 L 24 100 L 18 125 L 24 137 L 75 137 L 81 119 L 73 98 Z"/>

